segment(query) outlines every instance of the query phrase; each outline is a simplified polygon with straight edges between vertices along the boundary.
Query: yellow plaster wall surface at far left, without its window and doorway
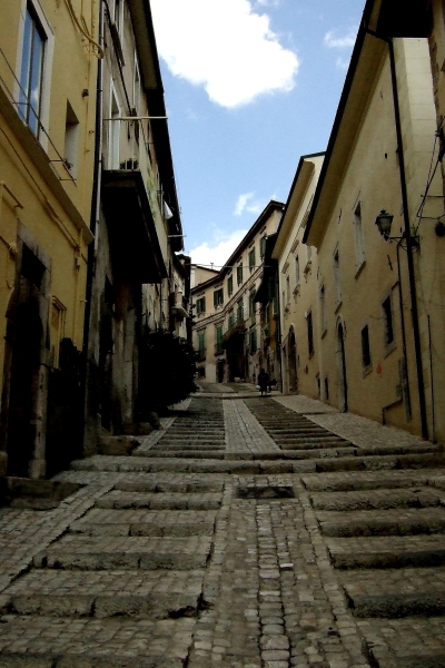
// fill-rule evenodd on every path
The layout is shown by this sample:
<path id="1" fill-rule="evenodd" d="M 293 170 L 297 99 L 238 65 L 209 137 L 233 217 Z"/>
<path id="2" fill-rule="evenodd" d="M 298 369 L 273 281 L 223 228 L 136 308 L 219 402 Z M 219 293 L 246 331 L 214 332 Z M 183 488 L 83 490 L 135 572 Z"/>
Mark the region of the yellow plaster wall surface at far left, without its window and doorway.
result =
<path id="1" fill-rule="evenodd" d="M 42 331 L 38 391 L 33 392 L 32 446 L 28 470 L 46 473 L 48 379 L 59 365 L 61 338 L 82 346 L 85 289 L 95 157 L 97 49 L 85 39 L 65 2 L 30 2 L 44 32 L 42 127 L 37 137 L 18 115 L 26 0 L 6 0 L 0 22 L 0 369 L 3 380 L 0 448 L 7 449 L 13 336 L 18 310 L 32 304 Z M 78 19 L 97 40 L 95 0 L 77 7 Z M 80 13 L 82 11 L 82 13 Z M 67 72 L 70 72 L 67 76 Z M 69 110 L 69 111 L 68 111 Z M 73 116 L 72 116 L 73 115 Z M 67 120 L 77 120 L 69 148 Z M 63 160 L 69 159 L 68 167 Z M 44 266 L 40 287 L 23 282 L 28 247 Z M 27 294 L 32 293 L 32 298 Z M 8 333 L 8 345 L 4 337 Z M 37 338 L 39 341 L 37 342 Z M 9 441 L 12 448 L 12 441 Z M 16 448 L 16 444 L 14 444 Z M 24 456 L 24 455 L 23 455 Z M 1 466 L 0 466 L 1 468 Z"/>

